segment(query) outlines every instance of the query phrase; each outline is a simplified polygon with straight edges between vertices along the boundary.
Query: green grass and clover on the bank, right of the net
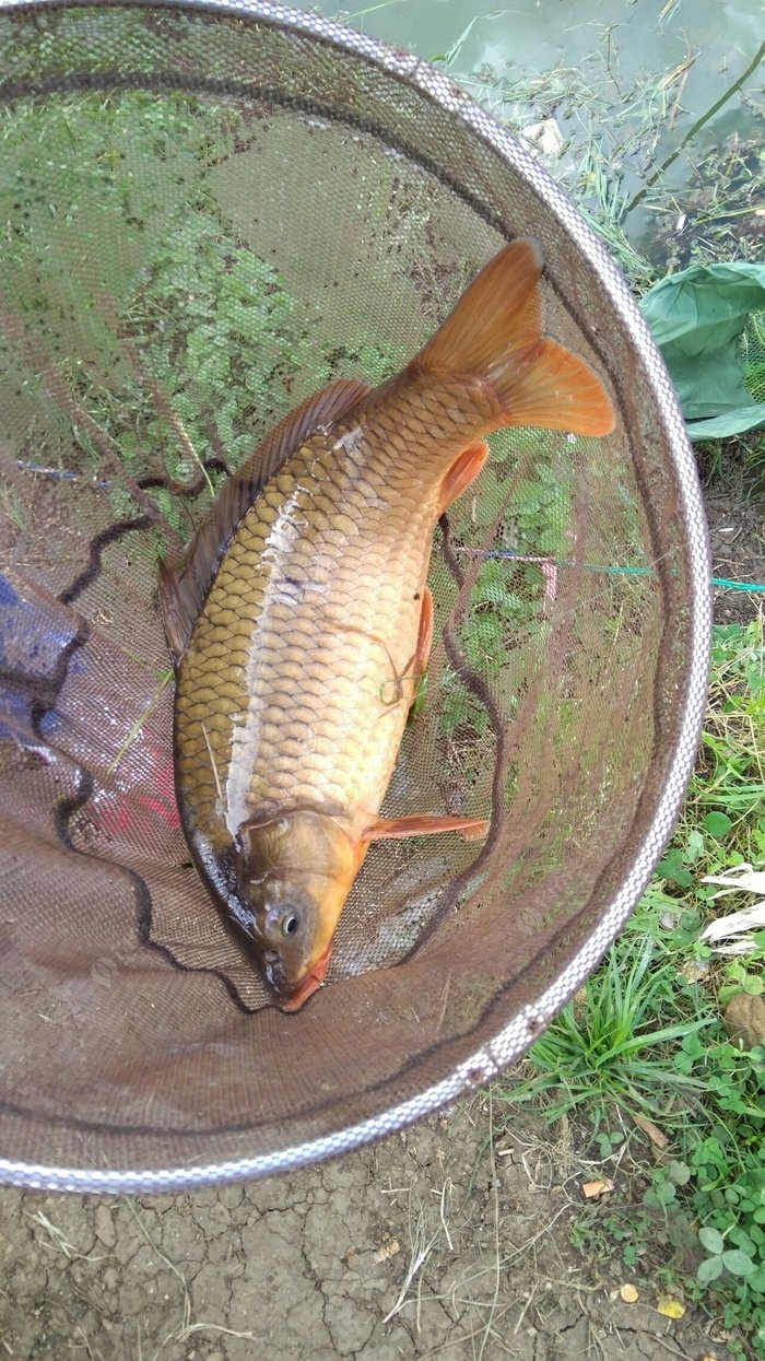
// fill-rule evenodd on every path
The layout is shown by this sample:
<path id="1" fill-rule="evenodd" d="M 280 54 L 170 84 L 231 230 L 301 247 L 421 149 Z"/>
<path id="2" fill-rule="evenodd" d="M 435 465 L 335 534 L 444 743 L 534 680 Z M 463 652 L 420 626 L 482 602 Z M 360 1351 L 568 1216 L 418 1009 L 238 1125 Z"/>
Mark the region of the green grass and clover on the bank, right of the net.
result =
<path id="1" fill-rule="evenodd" d="M 700 1302 L 738 1357 L 765 1357 L 765 1040 L 731 1037 L 726 1009 L 765 992 L 765 931 L 745 955 L 702 939 L 750 896 L 709 875 L 765 864 L 762 617 L 715 629 L 709 709 L 678 829 L 653 882 L 598 972 L 534 1045 L 519 1104 L 569 1119 L 613 1164 L 615 1190 L 572 1221 L 589 1259 Z M 745 1009 L 746 1010 L 746 1009 Z"/>

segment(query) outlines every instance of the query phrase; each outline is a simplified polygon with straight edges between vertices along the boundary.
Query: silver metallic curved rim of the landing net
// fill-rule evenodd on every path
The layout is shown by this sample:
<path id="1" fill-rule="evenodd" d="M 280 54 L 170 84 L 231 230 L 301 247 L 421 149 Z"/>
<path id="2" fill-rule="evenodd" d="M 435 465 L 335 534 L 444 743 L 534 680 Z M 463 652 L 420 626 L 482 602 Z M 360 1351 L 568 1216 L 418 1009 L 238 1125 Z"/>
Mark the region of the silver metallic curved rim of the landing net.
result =
<path id="1" fill-rule="evenodd" d="M 689 559 L 689 657 L 686 690 L 678 702 L 678 736 L 670 758 L 667 777 L 655 804 L 651 822 L 638 845 L 633 849 L 629 870 L 618 893 L 614 894 L 595 932 L 585 940 L 568 968 L 546 989 L 535 1004 L 524 1007 L 512 1021 L 502 1025 L 494 1038 L 463 1060 L 448 1077 L 430 1085 L 415 1097 L 363 1121 L 347 1124 L 329 1135 L 294 1143 L 275 1153 L 235 1160 L 200 1162 L 196 1166 L 165 1168 L 72 1168 L 41 1162 L 0 1158 L 0 1181 L 25 1190 L 79 1191 L 79 1192 L 167 1192 L 185 1191 L 211 1184 L 230 1184 L 240 1180 L 294 1170 L 331 1155 L 350 1153 L 376 1139 L 402 1130 L 415 1120 L 449 1105 L 460 1096 L 475 1090 L 517 1060 L 534 1038 L 550 1023 L 561 1006 L 573 996 L 592 972 L 595 964 L 614 942 L 644 891 L 679 813 L 693 770 L 706 704 L 711 638 L 712 638 L 712 583 L 706 521 L 701 487 L 690 441 L 685 431 L 677 399 L 664 363 L 621 272 L 613 264 L 603 244 L 579 215 L 573 203 L 517 143 L 479 105 L 441 71 L 404 49 L 384 44 L 366 34 L 346 29 L 332 20 L 304 14 L 293 7 L 270 4 L 267 0 L 0 0 L 1 14 L 37 14 L 44 10 L 167 10 L 188 14 L 208 14 L 218 18 L 240 19 L 252 24 L 265 24 L 324 42 L 347 54 L 362 57 L 384 69 L 389 76 L 414 86 L 432 102 L 460 120 L 479 139 L 486 142 L 524 178 L 532 180 L 544 207 L 555 216 L 577 246 L 584 249 L 589 264 L 603 284 L 608 304 L 628 332 L 636 351 L 651 358 L 641 365 L 642 378 L 652 392 L 656 414 L 663 425 L 663 436 L 670 452 L 671 467 L 678 482 L 679 512 Z M 663 381 L 662 381 L 663 380 Z"/>

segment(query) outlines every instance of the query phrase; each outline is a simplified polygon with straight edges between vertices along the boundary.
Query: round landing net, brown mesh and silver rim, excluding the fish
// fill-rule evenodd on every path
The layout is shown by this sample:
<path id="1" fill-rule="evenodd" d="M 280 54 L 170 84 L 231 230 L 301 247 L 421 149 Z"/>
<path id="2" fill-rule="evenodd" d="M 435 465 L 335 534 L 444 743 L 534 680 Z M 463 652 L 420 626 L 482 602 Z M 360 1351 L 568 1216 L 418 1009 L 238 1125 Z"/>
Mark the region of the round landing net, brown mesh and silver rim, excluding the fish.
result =
<path id="1" fill-rule="evenodd" d="M 682 419 L 574 211 L 414 57 L 255 4 L 11 5 L 0 53 L 1 1175 L 294 1166 L 517 1057 L 636 902 L 706 682 Z M 306 393 L 395 373 L 517 234 L 617 430 L 491 437 L 441 521 L 382 811 L 491 832 L 374 845 L 329 985 L 283 1015 L 180 830 L 158 554 Z"/>

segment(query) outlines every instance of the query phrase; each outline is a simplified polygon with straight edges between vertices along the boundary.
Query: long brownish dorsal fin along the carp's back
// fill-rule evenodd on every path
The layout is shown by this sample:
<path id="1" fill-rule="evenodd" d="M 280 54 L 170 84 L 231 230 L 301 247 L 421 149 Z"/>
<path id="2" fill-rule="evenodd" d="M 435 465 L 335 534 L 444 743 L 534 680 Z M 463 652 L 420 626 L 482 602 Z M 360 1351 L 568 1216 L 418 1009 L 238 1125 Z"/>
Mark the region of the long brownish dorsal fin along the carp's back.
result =
<path id="1" fill-rule="evenodd" d="M 329 429 L 372 391 L 358 378 L 338 378 L 290 411 L 223 485 L 184 554 L 159 565 L 159 607 L 170 652 L 178 663 L 218 563 L 237 525 L 265 483 L 320 427 Z"/>

